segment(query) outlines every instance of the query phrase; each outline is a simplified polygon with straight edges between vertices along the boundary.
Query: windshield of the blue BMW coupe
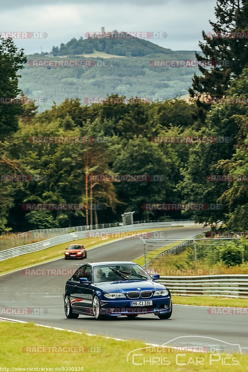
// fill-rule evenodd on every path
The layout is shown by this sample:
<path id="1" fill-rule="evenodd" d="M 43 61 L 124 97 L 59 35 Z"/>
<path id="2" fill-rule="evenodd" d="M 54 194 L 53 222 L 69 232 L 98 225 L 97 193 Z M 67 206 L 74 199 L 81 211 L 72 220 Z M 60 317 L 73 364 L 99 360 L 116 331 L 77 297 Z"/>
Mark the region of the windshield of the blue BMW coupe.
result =
<path id="1" fill-rule="evenodd" d="M 137 264 L 107 264 L 95 266 L 93 282 L 113 282 L 116 280 L 151 280 L 151 276 Z"/>

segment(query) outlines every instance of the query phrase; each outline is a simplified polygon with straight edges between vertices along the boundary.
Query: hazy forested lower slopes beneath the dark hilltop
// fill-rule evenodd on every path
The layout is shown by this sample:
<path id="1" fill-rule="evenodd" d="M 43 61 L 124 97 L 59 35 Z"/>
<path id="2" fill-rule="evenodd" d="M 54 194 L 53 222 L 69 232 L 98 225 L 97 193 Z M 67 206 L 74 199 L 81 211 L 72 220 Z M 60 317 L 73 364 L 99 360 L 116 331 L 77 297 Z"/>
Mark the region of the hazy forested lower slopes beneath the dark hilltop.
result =
<path id="1" fill-rule="evenodd" d="M 108 41 L 111 41 L 109 46 L 115 46 L 115 43 L 120 45 L 119 40 L 116 39 L 106 41 L 107 43 L 100 44 L 106 47 Z M 117 53 L 117 49 L 111 50 L 111 54 L 108 54 L 105 48 L 104 51 L 94 49 L 93 52 L 88 51 L 87 54 L 65 54 L 68 53 L 68 48 L 71 48 L 71 52 L 74 50 L 73 46 L 80 42 L 80 40 L 72 39 L 65 44 L 67 51 L 59 49 L 63 52 L 61 56 L 50 54 L 48 57 L 44 53 L 28 55 L 26 67 L 21 71 L 22 78 L 20 78 L 19 87 L 28 97 L 35 98 L 40 103 L 39 111 L 49 109 L 53 101 L 59 104 L 65 98 L 79 98 L 82 103 L 90 103 L 92 99 L 88 100 L 88 97 L 106 97 L 113 93 L 126 97 L 147 97 L 150 101 L 156 101 L 188 94 L 193 74 L 198 72 L 197 67 L 154 67 L 151 61 L 194 60 L 194 51 L 172 51 L 144 40 L 124 39 L 123 41 L 126 47 L 132 42 L 138 42 L 139 45 L 145 43 L 148 49 L 162 49 L 162 53 L 150 53 L 142 57 L 124 57 L 113 54 Z M 94 44 L 96 47 L 95 44 L 99 40 L 87 39 L 84 42 L 89 45 Z M 94 61 L 94 67 L 31 67 L 31 60 L 91 60 Z M 107 67 L 101 67 L 104 63 Z"/>

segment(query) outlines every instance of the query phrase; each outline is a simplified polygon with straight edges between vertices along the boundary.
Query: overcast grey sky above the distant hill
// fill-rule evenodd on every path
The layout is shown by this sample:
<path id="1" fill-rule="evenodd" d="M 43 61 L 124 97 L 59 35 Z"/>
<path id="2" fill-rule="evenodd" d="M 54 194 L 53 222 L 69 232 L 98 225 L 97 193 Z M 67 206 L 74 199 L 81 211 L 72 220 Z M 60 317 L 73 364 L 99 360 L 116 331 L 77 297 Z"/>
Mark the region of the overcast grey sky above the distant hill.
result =
<path id="1" fill-rule="evenodd" d="M 202 30 L 211 31 L 216 0 L 0 0 L 0 32 L 46 32 L 46 39 L 15 40 L 26 54 L 49 52 L 88 31 L 166 32 L 156 44 L 199 50 Z M 150 40 L 153 41 L 153 40 Z M 154 42 L 154 41 L 153 41 Z"/>

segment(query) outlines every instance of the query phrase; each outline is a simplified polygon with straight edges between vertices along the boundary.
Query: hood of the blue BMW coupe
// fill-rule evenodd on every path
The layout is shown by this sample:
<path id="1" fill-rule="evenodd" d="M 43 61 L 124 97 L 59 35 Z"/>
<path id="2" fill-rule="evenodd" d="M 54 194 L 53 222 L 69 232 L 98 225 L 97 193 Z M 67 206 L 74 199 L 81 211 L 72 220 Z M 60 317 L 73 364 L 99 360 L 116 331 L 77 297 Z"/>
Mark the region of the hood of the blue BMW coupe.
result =
<path id="1" fill-rule="evenodd" d="M 141 288 L 141 291 L 158 291 L 165 288 L 161 283 L 155 280 L 121 280 L 118 282 L 100 282 L 96 283 L 95 286 L 101 288 L 106 292 L 129 292 L 137 291 L 137 288 Z"/>

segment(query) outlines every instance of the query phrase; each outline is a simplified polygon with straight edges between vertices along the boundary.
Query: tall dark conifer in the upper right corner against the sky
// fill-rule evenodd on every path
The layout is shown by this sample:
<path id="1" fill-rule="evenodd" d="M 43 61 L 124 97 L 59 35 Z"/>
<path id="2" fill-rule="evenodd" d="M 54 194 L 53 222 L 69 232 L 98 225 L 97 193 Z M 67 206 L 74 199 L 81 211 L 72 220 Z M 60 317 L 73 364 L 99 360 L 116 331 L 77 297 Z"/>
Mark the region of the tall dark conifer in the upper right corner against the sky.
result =
<path id="1" fill-rule="evenodd" d="M 196 52 L 198 61 L 216 62 L 211 68 L 199 66 L 201 75 L 194 74 L 189 93 L 198 99 L 202 94 L 224 96 L 230 81 L 241 74 L 248 61 L 248 0 L 217 0 L 215 15 L 217 22 L 209 21 L 212 35 L 202 32 L 204 41 L 199 44 L 202 55 Z M 238 32 L 241 34 L 237 35 Z"/>

